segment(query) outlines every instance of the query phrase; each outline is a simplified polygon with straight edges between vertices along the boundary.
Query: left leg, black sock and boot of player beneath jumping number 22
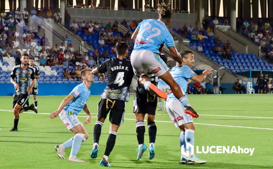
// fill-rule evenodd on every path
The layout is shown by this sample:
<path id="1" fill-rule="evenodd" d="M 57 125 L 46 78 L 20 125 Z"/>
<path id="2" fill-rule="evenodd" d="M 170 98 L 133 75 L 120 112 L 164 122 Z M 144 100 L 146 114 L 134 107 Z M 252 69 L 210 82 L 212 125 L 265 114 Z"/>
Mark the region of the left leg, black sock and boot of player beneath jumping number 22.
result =
<path id="1" fill-rule="evenodd" d="M 144 144 L 145 114 L 139 114 L 137 110 L 134 113 L 136 116 L 136 138 L 138 141 L 138 148 L 136 149 L 136 152 L 137 152 L 136 160 L 140 160 L 140 158 L 143 156 L 144 151 L 146 151 L 147 149 L 147 146 Z"/>

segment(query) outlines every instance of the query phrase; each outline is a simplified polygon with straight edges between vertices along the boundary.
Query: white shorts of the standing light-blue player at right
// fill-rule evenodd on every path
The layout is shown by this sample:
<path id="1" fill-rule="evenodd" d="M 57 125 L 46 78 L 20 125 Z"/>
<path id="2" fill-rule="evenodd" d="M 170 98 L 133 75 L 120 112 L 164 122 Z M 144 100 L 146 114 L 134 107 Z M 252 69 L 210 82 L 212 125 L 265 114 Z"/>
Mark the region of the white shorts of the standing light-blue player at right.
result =
<path id="1" fill-rule="evenodd" d="M 184 106 L 179 100 L 168 101 L 166 109 L 175 127 L 193 122 L 192 117 L 184 112 Z"/>

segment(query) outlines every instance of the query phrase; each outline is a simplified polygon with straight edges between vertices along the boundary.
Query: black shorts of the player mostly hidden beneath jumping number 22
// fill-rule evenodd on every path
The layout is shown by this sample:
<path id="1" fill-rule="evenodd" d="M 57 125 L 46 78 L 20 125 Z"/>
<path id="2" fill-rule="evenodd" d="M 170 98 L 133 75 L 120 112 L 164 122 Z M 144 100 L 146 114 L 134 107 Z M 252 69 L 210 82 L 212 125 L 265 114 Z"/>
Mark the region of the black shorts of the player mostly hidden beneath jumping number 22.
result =
<path id="1" fill-rule="evenodd" d="M 136 93 L 134 98 L 134 112 L 156 115 L 157 96 L 150 93 Z"/>

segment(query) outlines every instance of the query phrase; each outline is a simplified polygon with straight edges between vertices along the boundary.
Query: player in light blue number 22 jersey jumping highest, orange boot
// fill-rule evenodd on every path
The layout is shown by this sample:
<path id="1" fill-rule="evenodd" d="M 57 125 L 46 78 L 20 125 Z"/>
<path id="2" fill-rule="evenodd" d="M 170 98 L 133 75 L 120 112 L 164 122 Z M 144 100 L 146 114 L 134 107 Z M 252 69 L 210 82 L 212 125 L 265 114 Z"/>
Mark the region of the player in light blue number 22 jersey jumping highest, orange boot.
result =
<path id="1" fill-rule="evenodd" d="M 176 98 L 182 100 L 184 93 L 171 77 L 168 66 L 159 56 L 160 45 L 165 43 L 174 60 L 179 63 L 179 66 L 182 66 L 181 56 L 177 52 L 173 37 L 166 27 L 171 22 L 171 10 L 168 9 L 168 5 L 165 3 L 158 4 L 158 19 L 146 19 L 137 26 L 131 37 L 135 43 L 131 54 L 131 64 L 135 75 L 139 78 L 140 85 L 143 85 L 147 91 L 153 92 L 163 99 L 167 98 L 164 91 L 159 90 L 151 83 L 147 76 L 148 70 L 150 70 L 170 86 Z"/>

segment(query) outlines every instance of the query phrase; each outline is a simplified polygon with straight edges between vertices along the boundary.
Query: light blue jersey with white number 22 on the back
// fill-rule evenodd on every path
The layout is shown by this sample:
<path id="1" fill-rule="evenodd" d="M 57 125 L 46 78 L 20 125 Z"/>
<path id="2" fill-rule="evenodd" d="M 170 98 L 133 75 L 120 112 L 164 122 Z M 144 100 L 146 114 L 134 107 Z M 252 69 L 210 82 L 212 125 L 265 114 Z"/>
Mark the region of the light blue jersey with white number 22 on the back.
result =
<path id="1" fill-rule="evenodd" d="M 133 50 L 148 50 L 159 53 L 158 49 L 164 43 L 167 47 L 175 47 L 171 33 L 166 25 L 159 20 L 146 19 L 140 22 L 136 29 L 139 29 L 139 32 Z"/>

